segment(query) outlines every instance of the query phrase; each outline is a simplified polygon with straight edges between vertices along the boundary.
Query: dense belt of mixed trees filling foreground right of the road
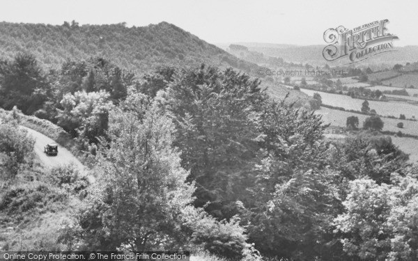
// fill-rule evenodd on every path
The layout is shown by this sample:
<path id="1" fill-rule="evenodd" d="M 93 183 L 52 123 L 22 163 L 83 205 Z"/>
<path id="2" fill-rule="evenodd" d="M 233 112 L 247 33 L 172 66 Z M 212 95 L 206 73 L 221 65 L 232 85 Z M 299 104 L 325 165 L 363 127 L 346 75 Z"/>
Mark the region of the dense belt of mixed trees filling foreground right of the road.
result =
<path id="1" fill-rule="evenodd" d="M 5 72 L 2 95 L 31 98 L 5 88 Z M 327 141 L 320 116 L 270 99 L 258 79 L 231 69 L 160 68 L 139 81 L 94 72 L 35 85 L 32 93 L 51 98 L 20 104 L 43 110 L 90 152 L 97 181 L 61 231 L 62 248 L 415 259 L 417 170 L 390 139 Z M 13 211 L 11 195 L 0 210 Z"/>

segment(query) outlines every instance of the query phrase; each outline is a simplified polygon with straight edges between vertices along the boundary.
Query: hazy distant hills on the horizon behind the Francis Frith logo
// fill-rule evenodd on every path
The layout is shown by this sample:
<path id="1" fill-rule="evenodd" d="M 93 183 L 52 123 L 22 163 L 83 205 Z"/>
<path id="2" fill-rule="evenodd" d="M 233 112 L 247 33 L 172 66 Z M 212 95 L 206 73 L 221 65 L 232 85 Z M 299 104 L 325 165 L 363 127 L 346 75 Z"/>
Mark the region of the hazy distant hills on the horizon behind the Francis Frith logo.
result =
<path id="1" fill-rule="evenodd" d="M 309 63 L 310 65 L 324 65 L 325 60 L 322 52 L 325 45 L 279 45 L 270 43 L 234 42 L 235 45 L 242 45 L 249 51 L 258 52 L 265 56 L 283 58 L 288 63 Z M 222 43 L 219 47 L 229 51 L 229 45 Z M 396 46 L 396 42 L 395 42 Z M 384 64 L 388 67 L 396 63 L 415 63 L 418 61 L 418 46 L 395 47 L 396 52 L 389 52 L 373 56 L 367 61 L 360 63 L 360 66 Z M 347 60 L 339 60 L 329 65 L 341 65 L 348 63 Z"/>

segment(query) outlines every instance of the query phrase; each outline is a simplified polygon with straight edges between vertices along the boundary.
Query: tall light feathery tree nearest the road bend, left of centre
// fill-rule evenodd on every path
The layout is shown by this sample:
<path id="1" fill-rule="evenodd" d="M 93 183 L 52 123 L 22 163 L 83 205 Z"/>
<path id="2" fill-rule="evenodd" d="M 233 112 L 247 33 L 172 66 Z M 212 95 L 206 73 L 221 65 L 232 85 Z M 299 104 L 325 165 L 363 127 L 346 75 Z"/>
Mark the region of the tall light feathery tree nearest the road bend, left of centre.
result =
<path id="1" fill-rule="evenodd" d="M 160 241 L 169 244 L 194 191 L 185 182 L 188 173 L 180 166 L 179 152 L 171 147 L 173 124 L 155 109 L 143 119 L 112 111 L 110 121 L 111 144 L 100 146 L 95 167 L 99 185 L 79 216 L 84 239 L 109 250 L 123 244 L 130 251 L 153 249 Z"/>

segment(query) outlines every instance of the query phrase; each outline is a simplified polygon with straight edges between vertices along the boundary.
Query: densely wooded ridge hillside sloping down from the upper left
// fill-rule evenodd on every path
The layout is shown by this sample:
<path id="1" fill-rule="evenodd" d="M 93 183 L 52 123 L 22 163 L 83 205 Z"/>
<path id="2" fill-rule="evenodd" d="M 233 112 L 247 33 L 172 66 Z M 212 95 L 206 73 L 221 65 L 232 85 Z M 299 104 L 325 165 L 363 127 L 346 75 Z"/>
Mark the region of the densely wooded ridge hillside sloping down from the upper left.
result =
<path id="1" fill-rule="evenodd" d="M 192 33 L 167 22 L 128 28 L 124 23 L 81 25 L 65 22 L 16 24 L 0 22 L 0 57 L 18 52 L 36 56 L 45 69 L 61 68 L 66 60 L 105 58 L 120 68 L 148 72 L 158 65 L 233 67 L 254 73 L 257 65 L 242 61 Z"/>

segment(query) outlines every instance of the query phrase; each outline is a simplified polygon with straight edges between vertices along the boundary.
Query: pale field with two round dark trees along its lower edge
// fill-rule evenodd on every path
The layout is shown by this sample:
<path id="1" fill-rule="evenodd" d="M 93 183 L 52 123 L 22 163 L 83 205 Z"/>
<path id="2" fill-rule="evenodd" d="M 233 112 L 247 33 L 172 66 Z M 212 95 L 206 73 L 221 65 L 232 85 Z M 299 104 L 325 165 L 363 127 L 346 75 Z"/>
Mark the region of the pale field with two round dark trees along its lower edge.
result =
<path id="1" fill-rule="evenodd" d="M 320 110 L 315 111 L 317 114 L 323 115 L 323 121 L 325 123 L 330 123 L 332 126 L 346 127 L 347 118 L 350 116 L 357 116 L 359 118 L 359 127 L 363 126 L 364 120 L 366 120 L 366 115 L 351 113 L 348 111 L 339 111 L 334 109 L 328 109 L 321 107 Z M 382 118 L 382 121 L 385 122 L 383 126 L 384 131 L 398 132 L 401 131 L 405 134 L 418 135 L 418 121 L 411 120 L 398 120 L 390 118 Z M 400 129 L 396 127 L 398 122 L 403 122 L 403 128 Z M 417 147 L 418 148 L 418 147 Z"/>

